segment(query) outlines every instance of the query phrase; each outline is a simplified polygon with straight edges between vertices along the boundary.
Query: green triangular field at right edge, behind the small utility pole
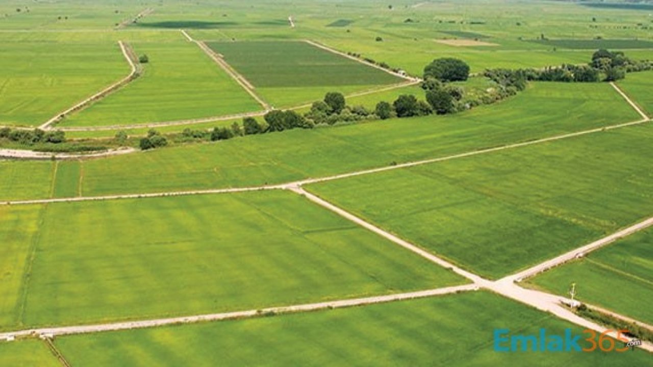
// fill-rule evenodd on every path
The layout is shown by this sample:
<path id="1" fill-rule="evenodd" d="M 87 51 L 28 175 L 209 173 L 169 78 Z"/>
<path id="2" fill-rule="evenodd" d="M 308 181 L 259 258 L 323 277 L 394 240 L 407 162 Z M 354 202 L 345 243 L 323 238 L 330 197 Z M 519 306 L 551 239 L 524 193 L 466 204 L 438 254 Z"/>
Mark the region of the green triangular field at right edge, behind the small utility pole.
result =
<path id="1" fill-rule="evenodd" d="M 577 285 L 581 301 L 653 324 L 653 230 L 633 234 L 528 283 L 559 295 Z"/>

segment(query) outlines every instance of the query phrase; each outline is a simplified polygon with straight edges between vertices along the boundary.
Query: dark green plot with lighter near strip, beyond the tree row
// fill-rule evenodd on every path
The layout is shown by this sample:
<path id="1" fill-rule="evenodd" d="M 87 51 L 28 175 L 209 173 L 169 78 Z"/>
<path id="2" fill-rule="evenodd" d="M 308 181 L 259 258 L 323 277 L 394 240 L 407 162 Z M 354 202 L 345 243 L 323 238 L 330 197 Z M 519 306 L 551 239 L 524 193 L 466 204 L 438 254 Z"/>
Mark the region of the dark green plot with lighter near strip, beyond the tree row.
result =
<path id="1" fill-rule="evenodd" d="M 312 102 L 329 91 L 351 93 L 404 79 L 308 42 L 207 42 L 277 106 Z"/>

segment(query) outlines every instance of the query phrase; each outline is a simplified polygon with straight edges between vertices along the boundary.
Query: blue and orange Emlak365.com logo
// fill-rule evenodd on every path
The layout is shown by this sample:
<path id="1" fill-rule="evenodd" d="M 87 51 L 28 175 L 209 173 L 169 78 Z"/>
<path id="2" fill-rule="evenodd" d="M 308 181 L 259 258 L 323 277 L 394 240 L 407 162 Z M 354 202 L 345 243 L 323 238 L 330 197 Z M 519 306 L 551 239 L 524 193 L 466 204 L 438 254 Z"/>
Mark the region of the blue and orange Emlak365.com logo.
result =
<path id="1" fill-rule="evenodd" d="M 609 336 L 616 332 L 616 340 Z M 537 334 L 511 334 L 507 328 L 494 329 L 494 351 L 497 352 L 593 352 L 597 349 L 604 352 L 625 352 L 631 347 L 641 345 L 641 340 L 628 340 L 624 335 L 628 330 L 605 330 L 598 334 L 594 330 L 585 329 L 581 334 L 574 334 L 571 328 L 566 328 L 564 334 L 550 334 L 541 328 Z M 598 338 L 597 338 L 598 336 Z"/>

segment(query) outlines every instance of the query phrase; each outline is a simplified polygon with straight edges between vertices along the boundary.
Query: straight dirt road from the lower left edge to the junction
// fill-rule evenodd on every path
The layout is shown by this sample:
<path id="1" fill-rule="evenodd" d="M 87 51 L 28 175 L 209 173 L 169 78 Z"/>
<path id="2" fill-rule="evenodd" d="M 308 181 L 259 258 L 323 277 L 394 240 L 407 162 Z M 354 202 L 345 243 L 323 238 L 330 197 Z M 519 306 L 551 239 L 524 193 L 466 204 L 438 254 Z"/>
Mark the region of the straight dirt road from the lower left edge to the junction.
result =
<path id="1" fill-rule="evenodd" d="M 27 336 L 44 335 L 44 334 L 48 334 L 52 336 L 88 334 L 92 332 L 133 330 L 136 328 L 151 328 L 151 327 L 162 327 L 167 325 L 199 323 L 202 321 L 244 319 L 249 317 L 257 317 L 257 316 L 265 316 L 265 315 L 298 313 L 302 311 L 349 308 L 354 306 L 380 304 L 380 303 L 392 302 L 397 300 L 411 300 L 411 299 L 425 298 L 430 296 L 449 295 L 452 293 L 459 293 L 459 292 L 466 292 L 466 291 L 476 291 L 477 289 L 478 287 L 475 284 L 465 284 L 465 285 L 456 285 L 453 287 L 428 289 L 426 291 L 396 293 L 394 295 L 383 295 L 383 296 L 369 296 L 364 298 L 349 298 L 343 300 L 332 300 L 327 302 L 317 302 L 317 303 L 299 304 L 299 305 L 291 305 L 291 306 L 278 306 L 278 307 L 263 308 L 260 310 L 208 313 L 203 315 L 168 317 L 164 319 L 149 319 L 149 320 L 142 320 L 142 321 L 124 321 L 124 322 L 106 323 L 106 324 L 97 324 L 97 325 L 33 328 L 33 329 L 18 330 L 13 332 L 2 332 L 0 333 L 0 340 L 5 339 L 8 336 L 27 337 Z"/>

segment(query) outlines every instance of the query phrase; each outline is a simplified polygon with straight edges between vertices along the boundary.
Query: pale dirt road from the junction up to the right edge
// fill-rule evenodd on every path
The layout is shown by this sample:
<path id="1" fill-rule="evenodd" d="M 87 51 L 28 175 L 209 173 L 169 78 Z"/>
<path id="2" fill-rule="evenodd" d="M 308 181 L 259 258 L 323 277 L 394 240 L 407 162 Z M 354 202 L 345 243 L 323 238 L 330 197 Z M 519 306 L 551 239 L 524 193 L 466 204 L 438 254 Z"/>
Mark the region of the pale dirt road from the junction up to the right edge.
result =
<path id="1" fill-rule="evenodd" d="M 643 231 L 647 229 L 648 227 L 653 226 L 653 217 L 649 217 L 643 221 L 640 221 L 638 223 L 635 223 L 634 225 L 631 225 L 625 229 L 622 229 L 621 231 L 614 232 L 613 234 L 610 234 L 609 236 L 605 236 L 603 238 L 600 238 L 599 240 L 596 240 L 590 244 L 586 244 L 581 247 L 577 247 L 575 249 L 572 249 L 571 251 L 567 251 L 563 253 L 562 255 L 559 255 L 557 257 L 554 257 L 553 259 L 549 259 L 547 261 L 544 261 L 542 263 L 539 263 L 535 266 L 531 266 L 530 268 L 526 270 L 522 270 L 516 274 L 512 274 L 510 276 L 507 276 L 503 279 L 505 281 L 522 281 L 524 279 L 532 278 L 533 276 L 536 276 L 537 274 L 541 274 L 543 272 L 546 272 L 547 270 L 554 268 L 556 266 L 560 266 L 562 264 L 568 263 L 569 261 L 573 259 L 579 259 L 581 257 L 584 257 L 588 253 L 595 251 L 603 246 L 607 246 L 609 244 L 612 244 L 613 242 L 620 240 L 626 236 L 629 236 L 631 234 L 634 234 L 639 231 Z"/>

